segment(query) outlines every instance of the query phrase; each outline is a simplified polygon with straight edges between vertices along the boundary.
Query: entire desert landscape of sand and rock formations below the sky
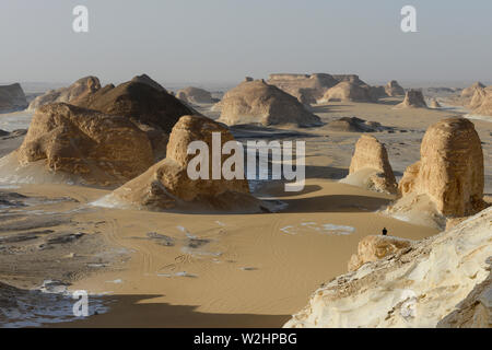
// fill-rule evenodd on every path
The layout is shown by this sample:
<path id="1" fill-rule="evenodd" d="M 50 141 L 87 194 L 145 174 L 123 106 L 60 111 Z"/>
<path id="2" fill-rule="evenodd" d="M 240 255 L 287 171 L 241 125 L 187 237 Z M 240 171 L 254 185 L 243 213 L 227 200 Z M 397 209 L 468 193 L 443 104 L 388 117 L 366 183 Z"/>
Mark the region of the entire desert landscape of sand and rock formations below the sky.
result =
<path id="1" fill-rule="evenodd" d="M 142 74 L 26 95 L 0 86 L 2 327 L 491 326 L 481 83 L 276 73 L 218 96 Z M 303 189 L 190 179 L 187 145 L 214 132 L 305 141 Z"/>

